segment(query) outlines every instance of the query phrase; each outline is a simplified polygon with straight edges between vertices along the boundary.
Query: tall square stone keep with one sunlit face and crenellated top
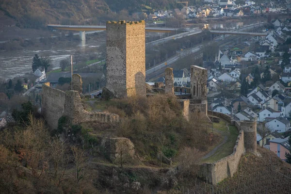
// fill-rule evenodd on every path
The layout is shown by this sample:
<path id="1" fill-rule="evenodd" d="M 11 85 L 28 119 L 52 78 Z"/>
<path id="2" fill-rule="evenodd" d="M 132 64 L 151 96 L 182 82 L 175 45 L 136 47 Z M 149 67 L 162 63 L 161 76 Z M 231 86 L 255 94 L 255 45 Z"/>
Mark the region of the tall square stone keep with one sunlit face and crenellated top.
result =
<path id="1" fill-rule="evenodd" d="M 106 31 L 106 88 L 115 97 L 146 97 L 145 21 L 108 21 Z"/>

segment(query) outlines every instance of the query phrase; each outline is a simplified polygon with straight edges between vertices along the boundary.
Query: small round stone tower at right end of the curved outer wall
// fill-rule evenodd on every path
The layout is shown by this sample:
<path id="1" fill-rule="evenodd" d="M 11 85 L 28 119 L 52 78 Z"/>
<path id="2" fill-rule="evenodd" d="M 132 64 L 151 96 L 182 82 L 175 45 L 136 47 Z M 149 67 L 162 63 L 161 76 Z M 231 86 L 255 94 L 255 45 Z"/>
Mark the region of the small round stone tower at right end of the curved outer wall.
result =
<path id="1" fill-rule="evenodd" d="M 257 154 L 257 121 L 241 121 L 241 130 L 245 151 Z"/>

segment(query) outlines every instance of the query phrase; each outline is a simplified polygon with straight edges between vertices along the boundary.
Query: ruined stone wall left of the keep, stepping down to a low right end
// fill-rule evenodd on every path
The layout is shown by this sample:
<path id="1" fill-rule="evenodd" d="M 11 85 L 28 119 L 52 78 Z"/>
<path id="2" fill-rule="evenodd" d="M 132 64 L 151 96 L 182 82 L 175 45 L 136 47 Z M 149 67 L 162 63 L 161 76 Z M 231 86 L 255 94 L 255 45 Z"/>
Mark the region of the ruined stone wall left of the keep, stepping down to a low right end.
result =
<path id="1" fill-rule="evenodd" d="M 61 116 L 67 116 L 72 124 L 87 121 L 114 123 L 119 115 L 111 113 L 88 112 L 84 110 L 78 91 L 61 91 L 43 85 L 42 114 L 49 127 L 56 129 Z"/>

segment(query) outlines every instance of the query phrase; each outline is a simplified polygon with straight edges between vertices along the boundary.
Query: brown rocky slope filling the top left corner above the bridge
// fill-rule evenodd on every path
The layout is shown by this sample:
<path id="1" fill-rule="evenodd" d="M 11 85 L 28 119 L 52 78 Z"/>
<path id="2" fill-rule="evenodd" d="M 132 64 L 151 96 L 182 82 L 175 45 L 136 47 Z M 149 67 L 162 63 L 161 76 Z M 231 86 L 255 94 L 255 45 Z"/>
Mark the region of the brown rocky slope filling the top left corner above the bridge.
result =
<path id="1" fill-rule="evenodd" d="M 1 0 L 0 11 L 0 21 L 8 17 L 20 28 L 41 28 L 68 19 L 81 22 L 110 9 L 104 0 Z"/>

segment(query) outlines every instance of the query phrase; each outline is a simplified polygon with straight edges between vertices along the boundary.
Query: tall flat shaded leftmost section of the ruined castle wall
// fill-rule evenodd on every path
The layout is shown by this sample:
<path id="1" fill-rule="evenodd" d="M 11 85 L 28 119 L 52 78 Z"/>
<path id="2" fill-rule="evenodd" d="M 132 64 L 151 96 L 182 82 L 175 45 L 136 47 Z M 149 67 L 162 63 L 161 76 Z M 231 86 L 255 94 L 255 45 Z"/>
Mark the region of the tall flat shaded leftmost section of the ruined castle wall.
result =
<path id="1" fill-rule="evenodd" d="M 50 88 L 47 83 L 43 84 L 41 113 L 50 128 L 57 129 L 59 118 L 64 113 L 64 106 L 65 92 Z"/>

